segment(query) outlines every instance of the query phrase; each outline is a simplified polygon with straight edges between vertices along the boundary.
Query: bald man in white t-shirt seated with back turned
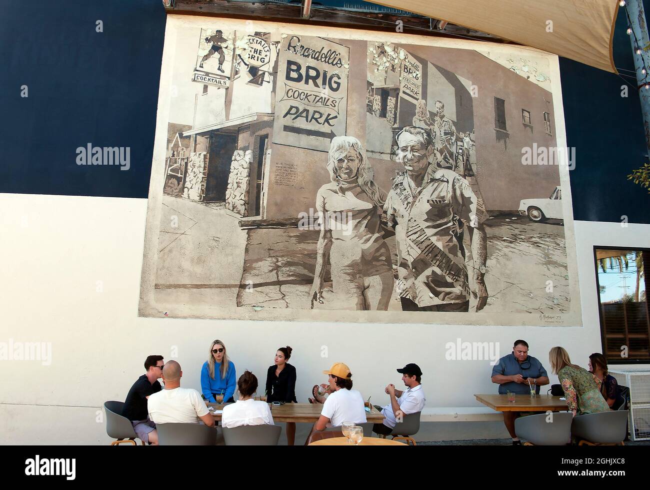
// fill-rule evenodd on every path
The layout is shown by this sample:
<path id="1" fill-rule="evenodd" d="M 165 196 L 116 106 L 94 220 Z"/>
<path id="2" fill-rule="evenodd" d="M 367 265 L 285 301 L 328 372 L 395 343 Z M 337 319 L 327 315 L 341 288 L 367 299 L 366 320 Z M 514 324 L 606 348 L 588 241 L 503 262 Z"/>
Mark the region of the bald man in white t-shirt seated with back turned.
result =
<path id="1" fill-rule="evenodd" d="M 214 427 L 214 417 L 194 388 L 181 388 L 183 371 L 176 361 L 162 368 L 164 390 L 149 396 L 149 418 L 156 424 L 200 424 Z"/>

